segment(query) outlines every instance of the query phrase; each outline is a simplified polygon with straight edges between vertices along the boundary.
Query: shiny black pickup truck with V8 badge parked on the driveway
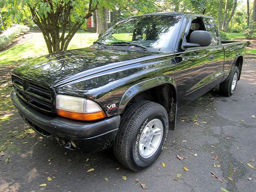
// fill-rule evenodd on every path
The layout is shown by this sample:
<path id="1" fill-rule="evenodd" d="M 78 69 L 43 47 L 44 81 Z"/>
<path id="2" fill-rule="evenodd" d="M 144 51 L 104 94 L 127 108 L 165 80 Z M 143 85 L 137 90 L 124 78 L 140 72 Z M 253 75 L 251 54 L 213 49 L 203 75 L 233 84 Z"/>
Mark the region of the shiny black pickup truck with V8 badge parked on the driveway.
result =
<path id="1" fill-rule="evenodd" d="M 90 48 L 25 62 L 11 99 L 41 136 L 76 151 L 113 147 L 132 170 L 151 165 L 177 109 L 220 84 L 231 96 L 245 42 L 222 41 L 212 17 L 153 13 L 121 20 Z"/>

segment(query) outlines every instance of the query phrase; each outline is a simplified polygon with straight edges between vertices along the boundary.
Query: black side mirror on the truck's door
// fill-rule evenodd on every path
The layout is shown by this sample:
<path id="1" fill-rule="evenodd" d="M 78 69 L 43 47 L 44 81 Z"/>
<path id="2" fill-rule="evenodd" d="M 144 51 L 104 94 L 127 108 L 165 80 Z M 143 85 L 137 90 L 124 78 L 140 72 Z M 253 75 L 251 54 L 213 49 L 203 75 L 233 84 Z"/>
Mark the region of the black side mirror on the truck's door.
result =
<path id="1" fill-rule="evenodd" d="M 206 47 L 211 44 L 211 33 L 208 31 L 196 30 L 189 36 L 189 42 L 183 42 L 183 48 Z"/>

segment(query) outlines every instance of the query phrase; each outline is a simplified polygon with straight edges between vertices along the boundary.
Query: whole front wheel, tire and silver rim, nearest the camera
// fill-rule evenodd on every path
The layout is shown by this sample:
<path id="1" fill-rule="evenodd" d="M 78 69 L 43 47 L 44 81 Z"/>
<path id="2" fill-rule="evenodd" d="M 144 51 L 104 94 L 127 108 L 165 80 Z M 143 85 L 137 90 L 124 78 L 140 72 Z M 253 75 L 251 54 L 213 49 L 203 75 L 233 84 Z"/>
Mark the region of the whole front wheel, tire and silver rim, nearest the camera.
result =
<path id="1" fill-rule="evenodd" d="M 164 107 L 151 101 L 136 102 L 122 116 L 113 147 L 115 157 L 132 170 L 146 168 L 161 154 L 167 133 Z"/>

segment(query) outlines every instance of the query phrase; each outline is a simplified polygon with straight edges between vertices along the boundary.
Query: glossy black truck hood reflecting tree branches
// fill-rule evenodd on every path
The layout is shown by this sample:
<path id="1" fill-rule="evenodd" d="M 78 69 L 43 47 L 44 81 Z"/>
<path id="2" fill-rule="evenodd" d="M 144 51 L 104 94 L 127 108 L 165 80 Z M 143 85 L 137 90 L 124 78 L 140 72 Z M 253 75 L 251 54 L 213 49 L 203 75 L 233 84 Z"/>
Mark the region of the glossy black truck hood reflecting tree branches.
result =
<path id="1" fill-rule="evenodd" d="M 29 60 L 12 73 L 23 79 L 56 87 L 84 76 L 165 54 L 167 53 L 83 48 Z"/>

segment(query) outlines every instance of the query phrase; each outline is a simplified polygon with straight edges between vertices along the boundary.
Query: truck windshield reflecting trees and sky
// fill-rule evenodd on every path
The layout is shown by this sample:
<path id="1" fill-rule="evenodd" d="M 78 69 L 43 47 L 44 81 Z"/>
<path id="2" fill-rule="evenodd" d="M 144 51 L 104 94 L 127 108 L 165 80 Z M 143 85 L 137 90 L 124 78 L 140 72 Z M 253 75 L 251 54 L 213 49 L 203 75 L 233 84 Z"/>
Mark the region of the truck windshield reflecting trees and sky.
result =
<path id="1" fill-rule="evenodd" d="M 98 39 L 104 45 L 141 48 L 170 48 L 173 46 L 181 16 L 145 15 L 122 20 Z"/>

